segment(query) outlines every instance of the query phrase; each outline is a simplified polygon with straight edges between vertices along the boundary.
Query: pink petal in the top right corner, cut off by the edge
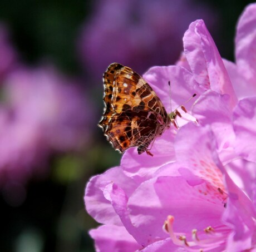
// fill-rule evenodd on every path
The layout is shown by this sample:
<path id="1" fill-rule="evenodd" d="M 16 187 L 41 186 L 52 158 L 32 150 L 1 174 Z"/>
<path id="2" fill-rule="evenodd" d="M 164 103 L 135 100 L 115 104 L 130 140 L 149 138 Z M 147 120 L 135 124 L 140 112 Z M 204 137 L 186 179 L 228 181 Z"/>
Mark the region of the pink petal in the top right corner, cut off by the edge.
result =
<path id="1" fill-rule="evenodd" d="M 240 73 L 256 81 L 256 4 L 249 4 L 242 13 L 235 37 L 235 57 Z"/>

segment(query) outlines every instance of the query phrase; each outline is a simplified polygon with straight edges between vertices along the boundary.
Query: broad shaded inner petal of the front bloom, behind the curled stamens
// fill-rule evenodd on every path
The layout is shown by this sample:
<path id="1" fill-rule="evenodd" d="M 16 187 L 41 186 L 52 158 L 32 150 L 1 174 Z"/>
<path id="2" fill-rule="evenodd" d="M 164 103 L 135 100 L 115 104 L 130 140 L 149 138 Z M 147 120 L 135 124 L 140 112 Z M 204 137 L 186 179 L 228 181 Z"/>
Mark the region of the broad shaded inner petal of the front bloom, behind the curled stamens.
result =
<path id="1" fill-rule="evenodd" d="M 174 216 L 177 232 L 191 233 L 194 228 L 203 230 L 209 225 L 220 224 L 223 204 L 221 201 L 209 201 L 208 196 L 200 192 L 206 188 L 204 183 L 190 186 L 183 177 L 170 176 L 141 184 L 130 197 L 128 207 L 131 222 L 136 224 L 142 244 L 168 237 L 162 230 L 168 215 Z"/>

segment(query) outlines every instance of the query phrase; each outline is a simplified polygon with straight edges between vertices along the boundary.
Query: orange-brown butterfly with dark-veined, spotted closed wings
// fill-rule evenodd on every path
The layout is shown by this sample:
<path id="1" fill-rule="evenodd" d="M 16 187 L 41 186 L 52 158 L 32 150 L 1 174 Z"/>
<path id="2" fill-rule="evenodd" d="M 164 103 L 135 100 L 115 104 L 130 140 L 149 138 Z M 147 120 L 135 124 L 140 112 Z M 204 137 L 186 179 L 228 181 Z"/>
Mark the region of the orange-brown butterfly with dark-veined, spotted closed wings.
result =
<path id="1" fill-rule="evenodd" d="M 166 113 L 155 91 L 129 67 L 112 63 L 103 80 L 105 108 L 99 126 L 107 140 L 121 153 L 137 146 L 139 155 L 153 156 L 149 145 L 171 123 L 176 126 L 179 111 Z"/>

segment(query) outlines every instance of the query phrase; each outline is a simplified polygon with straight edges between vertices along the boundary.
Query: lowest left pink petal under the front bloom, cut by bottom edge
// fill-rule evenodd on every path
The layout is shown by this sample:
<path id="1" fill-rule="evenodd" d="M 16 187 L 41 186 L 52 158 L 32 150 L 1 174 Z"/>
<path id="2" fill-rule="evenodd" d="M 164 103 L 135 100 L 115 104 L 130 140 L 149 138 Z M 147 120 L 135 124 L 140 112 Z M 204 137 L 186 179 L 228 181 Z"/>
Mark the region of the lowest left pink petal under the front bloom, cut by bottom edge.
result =
<path id="1" fill-rule="evenodd" d="M 96 251 L 130 252 L 141 249 L 123 226 L 103 225 L 90 230 L 89 234 L 95 240 Z"/>

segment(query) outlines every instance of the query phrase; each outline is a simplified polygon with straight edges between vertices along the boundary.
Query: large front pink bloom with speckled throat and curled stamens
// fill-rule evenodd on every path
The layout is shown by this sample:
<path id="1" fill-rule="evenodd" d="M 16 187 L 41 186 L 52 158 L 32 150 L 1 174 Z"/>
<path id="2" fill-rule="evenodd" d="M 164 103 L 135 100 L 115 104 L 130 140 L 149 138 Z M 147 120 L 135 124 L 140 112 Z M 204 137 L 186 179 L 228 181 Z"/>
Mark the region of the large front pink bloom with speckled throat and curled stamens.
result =
<path id="1" fill-rule="evenodd" d="M 136 172 L 130 176 L 122 165 L 93 177 L 87 185 L 85 202 L 88 213 L 104 224 L 90 231 L 97 251 L 111 251 L 107 249 L 109 240 L 115 244 L 112 251 L 121 250 L 125 242 L 127 251 L 251 248 L 256 242 L 252 240 L 252 199 L 234 184 L 216 160 L 214 141 L 210 130 L 189 123 L 176 136 L 176 162 L 163 163 L 147 179 L 136 181 Z M 130 166 L 136 165 L 138 159 L 130 160 Z M 150 162 L 148 157 L 147 162 L 144 160 L 147 164 L 141 166 L 149 166 Z M 242 171 L 243 162 L 236 165 Z M 137 175 L 141 177 L 141 170 Z M 230 218 L 234 212 L 236 221 Z M 116 235 L 119 229 L 121 239 Z M 111 230 L 114 233 L 110 237 L 107 234 Z"/>

